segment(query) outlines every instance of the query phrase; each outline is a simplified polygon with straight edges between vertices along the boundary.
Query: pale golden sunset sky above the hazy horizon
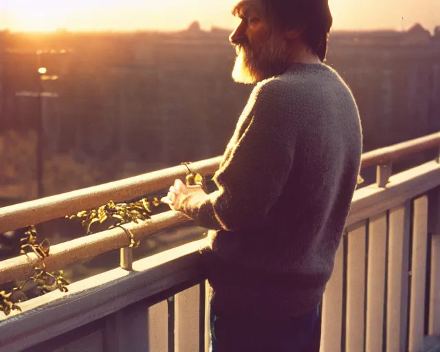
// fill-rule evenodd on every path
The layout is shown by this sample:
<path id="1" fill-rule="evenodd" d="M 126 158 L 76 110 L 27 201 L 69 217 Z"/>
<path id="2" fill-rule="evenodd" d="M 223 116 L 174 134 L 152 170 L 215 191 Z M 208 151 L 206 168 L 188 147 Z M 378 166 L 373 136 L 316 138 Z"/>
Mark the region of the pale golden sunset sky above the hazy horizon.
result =
<path id="1" fill-rule="evenodd" d="M 440 0 L 329 0 L 334 29 L 440 25 Z M 232 28 L 236 0 L 0 0 L 0 28 L 12 31 L 179 30 L 197 20 Z M 402 20 L 403 18 L 403 20 Z"/>

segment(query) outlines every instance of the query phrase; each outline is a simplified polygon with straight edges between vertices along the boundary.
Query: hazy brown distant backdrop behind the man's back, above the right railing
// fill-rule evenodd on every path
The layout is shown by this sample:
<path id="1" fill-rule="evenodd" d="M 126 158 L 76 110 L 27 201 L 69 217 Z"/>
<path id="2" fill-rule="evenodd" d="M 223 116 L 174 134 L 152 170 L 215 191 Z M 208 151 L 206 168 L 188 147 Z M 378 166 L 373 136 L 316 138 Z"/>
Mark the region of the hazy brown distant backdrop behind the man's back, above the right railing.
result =
<path id="1" fill-rule="evenodd" d="M 334 32 L 328 63 L 353 90 L 367 150 L 438 131 L 440 46 L 421 25 Z"/>

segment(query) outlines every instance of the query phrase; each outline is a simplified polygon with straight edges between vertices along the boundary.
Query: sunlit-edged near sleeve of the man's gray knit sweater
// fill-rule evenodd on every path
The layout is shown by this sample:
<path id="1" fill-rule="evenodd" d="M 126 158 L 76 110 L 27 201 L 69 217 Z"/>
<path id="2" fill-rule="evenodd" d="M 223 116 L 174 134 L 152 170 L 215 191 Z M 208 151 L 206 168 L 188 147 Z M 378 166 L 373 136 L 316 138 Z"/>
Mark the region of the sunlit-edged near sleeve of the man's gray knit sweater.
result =
<path id="1" fill-rule="evenodd" d="M 289 177 L 294 159 L 292 102 L 276 81 L 257 85 L 236 126 L 221 167 L 218 190 L 192 207 L 201 227 L 237 231 L 257 226 L 268 216 Z"/>

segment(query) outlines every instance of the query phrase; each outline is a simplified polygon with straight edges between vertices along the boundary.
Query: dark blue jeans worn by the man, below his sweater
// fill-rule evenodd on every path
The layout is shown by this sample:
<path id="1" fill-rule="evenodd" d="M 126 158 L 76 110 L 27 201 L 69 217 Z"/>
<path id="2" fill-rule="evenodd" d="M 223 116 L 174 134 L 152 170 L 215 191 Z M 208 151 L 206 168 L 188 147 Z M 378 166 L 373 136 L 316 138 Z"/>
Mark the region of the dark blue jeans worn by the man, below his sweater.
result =
<path id="1" fill-rule="evenodd" d="M 320 307 L 284 321 L 217 316 L 210 309 L 210 352 L 319 352 Z"/>

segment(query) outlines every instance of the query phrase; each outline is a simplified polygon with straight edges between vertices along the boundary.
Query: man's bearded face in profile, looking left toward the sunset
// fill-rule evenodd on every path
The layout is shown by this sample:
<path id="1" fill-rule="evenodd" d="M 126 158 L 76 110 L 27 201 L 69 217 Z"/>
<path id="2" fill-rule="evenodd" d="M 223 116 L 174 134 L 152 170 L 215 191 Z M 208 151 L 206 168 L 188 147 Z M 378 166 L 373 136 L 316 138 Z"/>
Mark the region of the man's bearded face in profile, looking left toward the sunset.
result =
<path id="1" fill-rule="evenodd" d="M 232 78 L 238 83 L 254 84 L 283 74 L 289 67 L 287 41 L 274 30 L 261 0 L 241 0 L 232 9 L 239 25 L 230 36 L 236 49 Z"/>

